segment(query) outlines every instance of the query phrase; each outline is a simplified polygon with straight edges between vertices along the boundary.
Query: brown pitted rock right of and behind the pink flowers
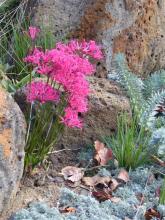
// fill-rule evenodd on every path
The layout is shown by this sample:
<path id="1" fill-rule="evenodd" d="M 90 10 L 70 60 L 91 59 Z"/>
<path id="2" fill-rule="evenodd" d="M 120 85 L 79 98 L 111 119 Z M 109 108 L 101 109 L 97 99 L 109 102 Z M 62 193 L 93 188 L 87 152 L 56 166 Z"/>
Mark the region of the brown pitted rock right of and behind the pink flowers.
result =
<path id="1" fill-rule="evenodd" d="M 129 100 L 117 84 L 102 78 L 90 78 L 91 95 L 89 112 L 84 116 L 84 127 L 66 128 L 60 140 L 64 147 L 80 147 L 91 144 L 103 135 L 110 135 L 116 130 L 116 118 L 120 112 L 130 113 Z"/>

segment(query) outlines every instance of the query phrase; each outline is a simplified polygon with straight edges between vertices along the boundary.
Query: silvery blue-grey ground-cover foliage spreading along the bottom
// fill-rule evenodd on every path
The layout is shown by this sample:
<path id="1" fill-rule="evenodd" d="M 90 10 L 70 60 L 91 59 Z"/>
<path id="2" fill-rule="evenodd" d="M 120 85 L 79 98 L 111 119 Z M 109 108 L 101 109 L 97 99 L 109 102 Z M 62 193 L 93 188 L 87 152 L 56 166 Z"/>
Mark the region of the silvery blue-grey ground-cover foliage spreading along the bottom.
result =
<path id="1" fill-rule="evenodd" d="M 102 169 L 100 175 L 117 176 L 119 170 Z M 165 220 L 165 206 L 159 204 L 158 189 L 163 183 L 164 169 L 155 167 L 138 168 L 129 172 L 130 181 L 117 188 L 114 196 L 121 201 L 110 200 L 98 202 L 90 195 L 79 195 L 70 189 L 63 188 L 56 207 L 48 203 L 32 202 L 25 209 L 13 214 L 10 220 L 145 220 L 144 214 L 149 208 L 157 210 Z M 143 199 L 142 199 L 143 196 Z M 66 207 L 73 212 L 60 213 Z M 151 218 L 150 218 L 151 219 Z"/>

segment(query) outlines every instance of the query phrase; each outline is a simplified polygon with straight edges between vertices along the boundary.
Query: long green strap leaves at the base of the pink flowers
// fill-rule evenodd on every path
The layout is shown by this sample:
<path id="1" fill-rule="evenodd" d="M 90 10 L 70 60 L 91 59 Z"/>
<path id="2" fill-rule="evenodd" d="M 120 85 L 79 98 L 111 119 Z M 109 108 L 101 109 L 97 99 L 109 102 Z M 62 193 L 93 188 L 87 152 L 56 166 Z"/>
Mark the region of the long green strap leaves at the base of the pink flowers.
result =
<path id="1" fill-rule="evenodd" d="M 58 106 L 52 103 L 33 104 L 30 109 L 30 116 L 26 115 L 28 131 L 25 148 L 25 171 L 34 168 L 41 163 L 62 133 L 64 125 L 60 122 L 59 113 L 64 111 L 64 99 L 61 99 Z"/>

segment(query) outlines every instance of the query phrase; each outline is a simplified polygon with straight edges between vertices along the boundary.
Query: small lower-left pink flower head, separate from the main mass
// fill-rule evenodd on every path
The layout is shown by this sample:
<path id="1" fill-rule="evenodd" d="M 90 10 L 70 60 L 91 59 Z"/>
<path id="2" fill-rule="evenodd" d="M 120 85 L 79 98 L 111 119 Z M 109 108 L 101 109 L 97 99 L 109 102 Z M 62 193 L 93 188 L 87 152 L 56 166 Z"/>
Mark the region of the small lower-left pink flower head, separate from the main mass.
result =
<path id="1" fill-rule="evenodd" d="M 59 92 L 45 82 L 32 82 L 28 84 L 26 88 L 28 102 L 32 103 L 34 101 L 39 101 L 41 103 L 45 103 L 48 101 L 59 101 Z"/>

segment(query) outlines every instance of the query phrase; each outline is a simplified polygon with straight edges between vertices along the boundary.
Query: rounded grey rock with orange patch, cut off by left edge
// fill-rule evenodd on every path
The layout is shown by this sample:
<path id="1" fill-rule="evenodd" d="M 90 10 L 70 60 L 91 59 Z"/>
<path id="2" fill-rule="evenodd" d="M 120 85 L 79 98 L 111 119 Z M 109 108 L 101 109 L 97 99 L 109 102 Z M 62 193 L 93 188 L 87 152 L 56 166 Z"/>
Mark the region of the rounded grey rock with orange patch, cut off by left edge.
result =
<path id="1" fill-rule="evenodd" d="M 0 88 L 0 217 L 10 208 L 22 177 L 25 131 L 21 110 Z"/>

